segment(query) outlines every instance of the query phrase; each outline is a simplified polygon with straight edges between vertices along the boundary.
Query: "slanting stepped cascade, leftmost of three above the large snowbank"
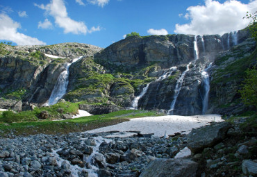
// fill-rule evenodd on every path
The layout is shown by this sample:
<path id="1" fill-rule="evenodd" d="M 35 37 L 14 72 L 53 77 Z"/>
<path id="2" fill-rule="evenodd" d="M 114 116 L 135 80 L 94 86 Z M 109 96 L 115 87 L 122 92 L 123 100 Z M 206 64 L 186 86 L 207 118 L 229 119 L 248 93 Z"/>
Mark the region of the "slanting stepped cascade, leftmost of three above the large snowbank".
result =
<path id="1" fill-rule="evenodd" d="M 160 76 L 159 78 L 157 78 L 156 81 L 163 81 L 165 78 L 167 78 L 167 77 L 169 77 L 170 75 L 172 75 L 172 72 L 173 72 L 173 71 L 176 71 L 176 67 L 171 67 L 171 68 L 167 69 L 167 71 L 165 71 L 162 76 Z M 156 81 L 154 81 L 154 82 L 156 82 Z M 153 83 L 153 82 L 151 82 L 151 83 Z M 142 98 L 142 96 L 144 96 L 144 94 L 147 93 L 147 90 L 148 90 L 149 85 L 150 85 L 151 83 L 148 83 L 147 86 L 145 86 L 145 87 L 143 88 L 143 90 L 142 90 L 142 92 L 140 93 L 139 96 L 135 96 L 135 99 L 132 101 L 131 109 L 133 109 L 133 110 L 138 109 L 138 101 Z"/>

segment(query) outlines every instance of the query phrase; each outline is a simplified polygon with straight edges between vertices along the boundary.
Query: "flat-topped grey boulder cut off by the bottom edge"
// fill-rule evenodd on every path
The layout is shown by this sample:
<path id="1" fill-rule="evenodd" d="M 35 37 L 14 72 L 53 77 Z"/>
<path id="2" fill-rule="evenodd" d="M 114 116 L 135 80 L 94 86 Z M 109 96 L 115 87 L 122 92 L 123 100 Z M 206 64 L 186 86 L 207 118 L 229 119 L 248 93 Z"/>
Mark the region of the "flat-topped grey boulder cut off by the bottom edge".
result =
<path id="1" fill-rule="evenodd" d="M 142 171 L 140 177 L 192 177 L 197 174 L 197 162 L 188 159 L 156 159 Z"/>

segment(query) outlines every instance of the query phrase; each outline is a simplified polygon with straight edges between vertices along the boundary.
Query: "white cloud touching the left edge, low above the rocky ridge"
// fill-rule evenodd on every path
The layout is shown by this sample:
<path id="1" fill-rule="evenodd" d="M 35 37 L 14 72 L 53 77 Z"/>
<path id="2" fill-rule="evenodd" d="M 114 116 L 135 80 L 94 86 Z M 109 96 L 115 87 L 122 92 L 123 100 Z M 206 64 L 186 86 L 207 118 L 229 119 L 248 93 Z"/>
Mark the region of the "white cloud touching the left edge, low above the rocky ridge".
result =
<path id="1" fill-rule="evenodd" d="M 30 37 L 17 32 L 17 28 L 21 25 L 14 22 L 5 13 L 0 14 L 0 40 L 9 40 L 15 42 L 17 45 L 45 45 L 45 42 L 38 40 L 35 37 Z"/>

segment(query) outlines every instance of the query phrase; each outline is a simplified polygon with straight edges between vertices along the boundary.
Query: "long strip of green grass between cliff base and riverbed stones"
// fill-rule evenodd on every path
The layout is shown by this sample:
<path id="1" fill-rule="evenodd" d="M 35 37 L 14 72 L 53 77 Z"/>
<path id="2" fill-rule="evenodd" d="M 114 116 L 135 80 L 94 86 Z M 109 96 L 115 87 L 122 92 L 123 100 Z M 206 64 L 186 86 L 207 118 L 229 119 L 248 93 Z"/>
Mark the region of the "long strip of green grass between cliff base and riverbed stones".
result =
<path id="1" fill-rule="evenodd" d="M 128 121 L 128 118 L 160 116 L 158 112 L 145 110 L 120 110 L 106 115 L 92 115 L 64 121 L 28 121 L 20 123 L 0 124 L 0 135 L 6 136 L 13 132 L 15 135 L 33 135 L 38 133 L 56 134 L 92 130 L 103 126 Z"/>

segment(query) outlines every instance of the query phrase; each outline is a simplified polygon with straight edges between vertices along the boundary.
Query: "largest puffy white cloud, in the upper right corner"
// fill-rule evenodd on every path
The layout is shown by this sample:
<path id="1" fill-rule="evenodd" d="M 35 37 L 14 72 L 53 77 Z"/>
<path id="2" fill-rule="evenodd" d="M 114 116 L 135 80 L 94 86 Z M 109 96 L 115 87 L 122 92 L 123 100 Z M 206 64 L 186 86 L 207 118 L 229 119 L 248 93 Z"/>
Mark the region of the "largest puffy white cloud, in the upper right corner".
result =
<path id="1" fill-rule="evenodd" d="M 248 4 L 236 0 L 224 3 L 206 0 L 204 6 L 191 6 L 188 9 L 188 24 L 176 24 L 175 33 L 204 35 L 224 34 L 229 31 L 240 30 L 249 24 L 249 20 L 242 19 L 248 12 L 257 11 L 257 0 Z"/>

